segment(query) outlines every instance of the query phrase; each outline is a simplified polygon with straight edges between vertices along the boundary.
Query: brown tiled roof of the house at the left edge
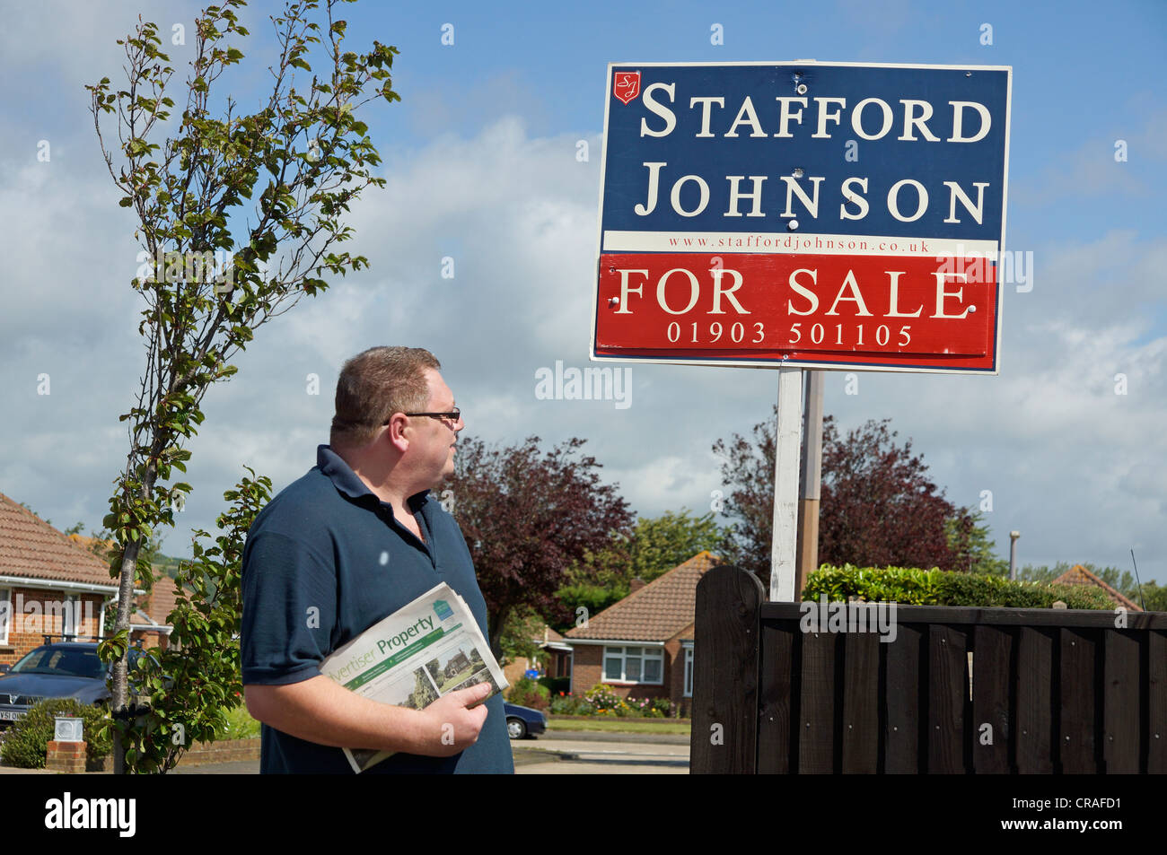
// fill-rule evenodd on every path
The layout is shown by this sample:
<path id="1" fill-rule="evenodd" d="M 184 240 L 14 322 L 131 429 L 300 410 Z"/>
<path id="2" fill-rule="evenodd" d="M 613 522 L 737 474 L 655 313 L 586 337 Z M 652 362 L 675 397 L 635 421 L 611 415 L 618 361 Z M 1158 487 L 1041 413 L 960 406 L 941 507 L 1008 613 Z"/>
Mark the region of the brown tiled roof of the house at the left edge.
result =
<path id="1" fill-rule="evenodd" d="M 110 588 L 109 566 L 0 493 L 0 575 Z"/>

